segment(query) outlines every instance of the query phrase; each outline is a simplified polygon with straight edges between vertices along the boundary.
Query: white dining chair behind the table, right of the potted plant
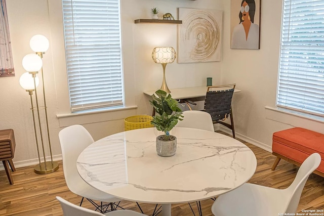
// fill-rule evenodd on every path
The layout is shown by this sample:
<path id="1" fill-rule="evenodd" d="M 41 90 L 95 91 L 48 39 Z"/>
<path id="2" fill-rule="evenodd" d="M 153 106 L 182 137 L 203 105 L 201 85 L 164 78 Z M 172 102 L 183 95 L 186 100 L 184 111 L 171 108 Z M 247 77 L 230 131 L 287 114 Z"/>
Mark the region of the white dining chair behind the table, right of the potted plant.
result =
<path id="1" fill-rule="evenodd" d="M 208 112 L 187 110 L 182 115 L 183 120 L 178 121 L 176 127 L 190 127 L 215 132 L 212 116 Z"/>

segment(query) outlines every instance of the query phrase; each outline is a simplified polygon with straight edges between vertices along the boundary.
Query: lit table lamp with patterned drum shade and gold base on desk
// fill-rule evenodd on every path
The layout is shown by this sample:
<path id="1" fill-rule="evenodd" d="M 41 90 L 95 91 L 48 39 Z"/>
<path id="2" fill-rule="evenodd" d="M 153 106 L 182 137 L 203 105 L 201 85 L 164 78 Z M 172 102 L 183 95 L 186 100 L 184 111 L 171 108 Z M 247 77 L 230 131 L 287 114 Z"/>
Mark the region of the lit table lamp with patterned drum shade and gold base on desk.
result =
<path id="1" fill-rule="evenodd" d="M 176 51 L 173 47 L 155 47 L 152 51 L 152 59 L 155 63 L 160 63 L 163 68 L 163 80 L 160 90 L 171 93 L 166 81 L 166 67 L 168 63 L 176 59 Z"/>

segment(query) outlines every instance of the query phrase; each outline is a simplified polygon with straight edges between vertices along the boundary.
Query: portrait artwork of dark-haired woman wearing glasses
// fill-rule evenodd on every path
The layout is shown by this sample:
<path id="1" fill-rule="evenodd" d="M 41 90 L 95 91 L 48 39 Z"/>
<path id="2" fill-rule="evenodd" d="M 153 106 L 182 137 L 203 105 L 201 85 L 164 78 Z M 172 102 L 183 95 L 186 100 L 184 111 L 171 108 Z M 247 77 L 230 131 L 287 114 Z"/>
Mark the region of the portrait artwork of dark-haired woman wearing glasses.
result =
<path id="1" fill-rule="evenodd" d="M 260 49 L 261 0 L 231 0 L 231 49 Z"/>

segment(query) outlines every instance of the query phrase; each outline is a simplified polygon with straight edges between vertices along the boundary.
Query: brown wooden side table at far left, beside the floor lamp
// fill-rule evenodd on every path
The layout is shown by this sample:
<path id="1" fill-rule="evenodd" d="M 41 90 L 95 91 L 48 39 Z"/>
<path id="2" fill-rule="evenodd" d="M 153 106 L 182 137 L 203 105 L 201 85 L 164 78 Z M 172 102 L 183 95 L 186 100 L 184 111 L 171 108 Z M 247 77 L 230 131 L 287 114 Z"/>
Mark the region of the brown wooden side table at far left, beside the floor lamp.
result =
<path id="1" fill-rule="evenodd" d="M 15 154 L 15 136 L 13 129 L 5 129 L 0 131 L 0 160 L 4 163 L 6 173 L 9 179 L 9 183 L 12 185 L 14 181 L 11 176 L 11 172 L 9 169 L 9 165 L 12 171 L 16 171 L 14 163 L 12 162 L 12 158 L 14 158 Z M 8 165 L 8 163 L 9 165 Z"/>

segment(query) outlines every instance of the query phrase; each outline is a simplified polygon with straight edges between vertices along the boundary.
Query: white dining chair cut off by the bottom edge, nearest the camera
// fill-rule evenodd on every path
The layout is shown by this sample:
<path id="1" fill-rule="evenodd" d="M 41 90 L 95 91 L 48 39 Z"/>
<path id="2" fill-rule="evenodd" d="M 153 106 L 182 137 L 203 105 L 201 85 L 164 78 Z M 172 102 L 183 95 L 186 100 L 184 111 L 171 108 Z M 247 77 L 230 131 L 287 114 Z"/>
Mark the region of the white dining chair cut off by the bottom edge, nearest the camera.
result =
<path id="1" fill-rule="evenodd" d="M 104 215 L 106 216 L 147 216 L 146 214 L 142 214 L 136 211 L 126 210 L 126 209 L 110 211 L 103 214 L 88 208 L 74 205 L 73 203 L 70 203 L 59 196 L 57 196 L 56 199 L 61 204 L 64 216 L 75 216 L 75 215 L 77 216 L 104 216 Z"/>

